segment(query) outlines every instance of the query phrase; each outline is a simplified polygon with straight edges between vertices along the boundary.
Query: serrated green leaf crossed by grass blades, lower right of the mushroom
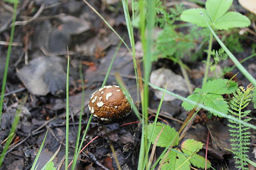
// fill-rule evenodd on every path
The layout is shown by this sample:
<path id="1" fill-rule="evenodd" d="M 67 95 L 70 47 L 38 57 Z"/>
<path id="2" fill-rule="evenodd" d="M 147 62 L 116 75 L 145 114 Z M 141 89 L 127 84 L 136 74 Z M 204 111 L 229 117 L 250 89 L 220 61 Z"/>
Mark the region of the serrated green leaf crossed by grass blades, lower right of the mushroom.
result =
<path id="1" fill-rule="evenodd" d="M 154 125 L 151 125 L 151 124 L 148 125 L 148 128 L 147 128 L 148 139 L 150 138 L 151 131 L 153 130 L 153 126 Z M 169 143 L 172 142 L 174 137 L 177 135 L 177 132 L 174 128 L 171 128 L 169 125 L 165 125 L 163 123 L 156 124 L 155 130 L 152 136 L 152 144 L 154 144 L 156 137 L 159 135 L 162 128 L 164 128 L 164 130 L 162 131 L 156 146 L 167 147 Z M 176 138 L 174 142 L 174 146 L 178 145 L 178 143 L 179 143 L 179 136 Z"/>

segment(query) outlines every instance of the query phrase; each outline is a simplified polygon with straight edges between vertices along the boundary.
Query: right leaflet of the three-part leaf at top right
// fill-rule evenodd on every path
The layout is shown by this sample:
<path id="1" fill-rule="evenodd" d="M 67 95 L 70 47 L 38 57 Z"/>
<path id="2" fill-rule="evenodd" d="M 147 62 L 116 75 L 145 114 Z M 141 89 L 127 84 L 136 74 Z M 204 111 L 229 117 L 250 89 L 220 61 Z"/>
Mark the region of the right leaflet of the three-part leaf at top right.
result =
<path id="1" fill-rule="evenodd" d="M 251 21 L 241 13 L 228 12 L 213 23 L 213 26 L 218 30 L 228 30 L 229 28 L 235 27 L 248 27 L 250 24 Z"/>

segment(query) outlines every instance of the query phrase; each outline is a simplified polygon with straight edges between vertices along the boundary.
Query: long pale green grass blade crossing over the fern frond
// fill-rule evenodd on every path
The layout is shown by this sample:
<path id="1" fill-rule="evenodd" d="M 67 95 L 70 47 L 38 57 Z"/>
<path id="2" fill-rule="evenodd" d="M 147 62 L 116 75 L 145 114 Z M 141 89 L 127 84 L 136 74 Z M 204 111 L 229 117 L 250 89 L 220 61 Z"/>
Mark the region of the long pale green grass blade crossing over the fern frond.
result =
<path id="1" fill-rule="evenodd" d="M 221 117 L 226 117 L 226 118 L 228 118 L 228 119 L 231 119 L 231 120 L 234 120 L 234 121 L 236 121 L 236 122 L 238 122 L 238 123 L 241 123 L 241 124 L 243 124 L 243 125 L 246 125 L 246 126 L 248 126 L 248 127 L 250 127 L 250 128 L 256 129 L 256 126 L 255 126 L 255 125 L 252 125 L 252 124 L 247 123 L 247 122 L 243 122 L 242 120 L 238 120 L 238 119 L 236 119 L 236 118 L 234 118 L 234 117 L 232 117 L 232 116 L 230 116 L 230 115 L 227 115 L 227 114 L 225 114 L 225 113 L 223 113 L 223 112 L 217 111 L 217 110 L 215 110 L 215 109 L 212 109 L 212 108 L 207 107 L 207 106 L 205 106 L 205 105 L 202 105 L 202 104 L 200 104 L 200 103 L 194 102 L 194 101 L 192 101 L 192 100 L 189 100 L 189 99 L 187 99 L 187 98 L 185 98 L 185 97 L 182 97 L 182 96 L 180 96 L 180 95 L 178 95 L 178 94 L 175 94 L 175 93 L 173 93 L 173 92 L 170 92 L 170 91 L 168 91 L 168 90 L 164 90 L 163 88 L 157 87 L 156 85 L 153 85 L 153 84 L 151 84 L 151 83 L 148 83 L 148 84 L 149 84 L 151 87 L 154 87 L 154 88 L 157 89 L 157 90 L 166 92 L 166 93 L 168 93 L 169 95 L 172 95 L 172 96 L 174 96 L 174 97 L 177 97 L 179 100 L 188 102 L 188 103 L 190 103 L 190 104 L 192 104 L 192 105 L 197 105 L 198 107 L 202 107 L 202 108 L 205 109 L 205 110 L 208 110 L 208 111 L 211 111 L 211 112 L 215 112 L 217 115 L 219 115 L 219 116 L 221 116 Z"/>

